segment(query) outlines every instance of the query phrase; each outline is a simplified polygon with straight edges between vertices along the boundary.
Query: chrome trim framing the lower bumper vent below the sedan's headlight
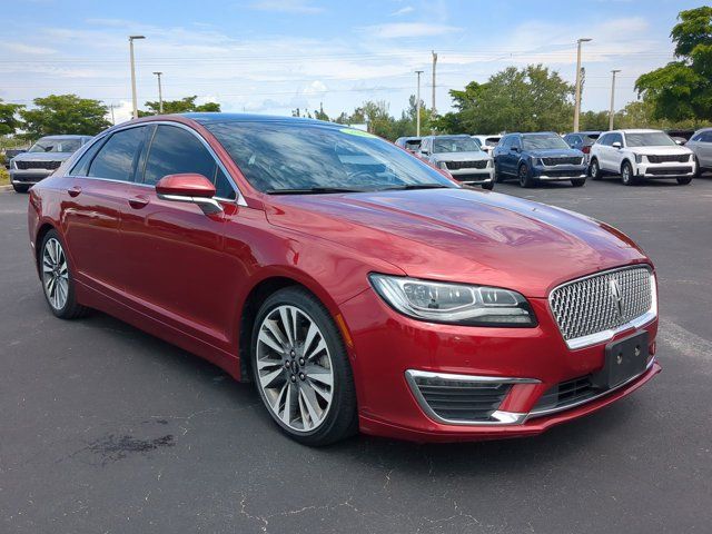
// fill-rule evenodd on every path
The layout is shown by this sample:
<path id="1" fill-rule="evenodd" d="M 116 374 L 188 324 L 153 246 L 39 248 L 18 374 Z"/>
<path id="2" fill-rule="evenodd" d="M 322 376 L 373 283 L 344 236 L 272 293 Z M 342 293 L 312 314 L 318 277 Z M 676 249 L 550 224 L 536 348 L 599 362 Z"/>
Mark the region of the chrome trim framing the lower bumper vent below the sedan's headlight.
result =
<path id="1" fill-rule="evenodd" d="M 516 412 L 495 411 L 492 414 L 492 418 L 496 421 L 459 421 L 459 419 L 446 419 L 437 415 L 433 408 L 427 404 L 427 400 L 421 393 L 416 377 L 423 378 L 441 378 L 444 380 L 458 380 L 458 382 L 472 382 L 481 384 L 540 384 L 541 380 L 536 378 L 513 378 L 513 377 L 500 377 L 500 376 L 477 376 L 477 375 L 456 375 L 451 373 L 433 373 L 428 370 L 406 369 L 405 379 L 415 396 L 415 399 L 421 406 L 421 409 L 433 421 L 442 423 L 444 425 L 457 425 L 457 426 L 492 426 L 492 425 L 521 425 L 524 423 L 528 414 L 520 414 Z"/>

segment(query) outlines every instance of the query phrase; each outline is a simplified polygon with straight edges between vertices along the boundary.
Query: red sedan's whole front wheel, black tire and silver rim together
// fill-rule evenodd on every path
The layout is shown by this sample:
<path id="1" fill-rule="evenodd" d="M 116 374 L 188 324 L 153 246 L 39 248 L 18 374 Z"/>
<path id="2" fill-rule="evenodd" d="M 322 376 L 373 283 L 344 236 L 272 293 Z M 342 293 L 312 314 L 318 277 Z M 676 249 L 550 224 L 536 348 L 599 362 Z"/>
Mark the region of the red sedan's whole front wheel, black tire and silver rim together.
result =
<path id="1" fill-rule="evenodd" d="M 332 316 L 312 293 L 294 286 L 265 300 L 253 329 L 250 363 L 265 408 L 293 439 L 324 446 L 357 432 L 348 354 Z"/>

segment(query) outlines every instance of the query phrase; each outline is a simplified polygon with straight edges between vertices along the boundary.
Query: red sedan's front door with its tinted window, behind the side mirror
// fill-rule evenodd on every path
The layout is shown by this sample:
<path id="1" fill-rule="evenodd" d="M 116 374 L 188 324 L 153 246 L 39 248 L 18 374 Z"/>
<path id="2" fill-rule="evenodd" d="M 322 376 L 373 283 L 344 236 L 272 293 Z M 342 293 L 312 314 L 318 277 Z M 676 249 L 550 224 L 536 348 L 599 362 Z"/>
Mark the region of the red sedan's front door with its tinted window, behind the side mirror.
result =
<path id="1" fill-rule="evenodd" d="M 226 342 L 237 306 L 226 287 L 239 276 L 224 253 L 226 218 L 158 198 L 155 186 L 167 175 L 197 172 L 216 185 L 216 198 L 231 206 L 236 188 L 202 138 L 184 126 L 160 123 L 139 167 L 122 206 L 128 298 L 191 336 Z"/>

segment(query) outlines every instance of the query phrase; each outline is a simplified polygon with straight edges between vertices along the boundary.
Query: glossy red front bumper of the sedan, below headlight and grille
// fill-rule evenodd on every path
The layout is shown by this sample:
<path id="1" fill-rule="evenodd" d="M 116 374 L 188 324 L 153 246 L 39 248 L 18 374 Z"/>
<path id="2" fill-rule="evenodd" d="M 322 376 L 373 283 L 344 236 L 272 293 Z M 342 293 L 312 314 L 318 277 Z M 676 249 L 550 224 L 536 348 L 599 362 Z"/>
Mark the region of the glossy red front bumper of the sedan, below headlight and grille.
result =
<path id="1" fill-rule="evenodd" d="M 614 389 L 537 413 L 536 404 L 553 386 L 603 367 L 605 343 L 568 349 L 545 299 L 530 299 L 538 319 L 534 328 L 435 325 L 404 317 L 370 289 L 342 305 L 353 339 L 353 367 L 364 433 L 412 441 L 477 441 L 530 436 L 595 412 L 649 382 L 661 367 L 649 360 L 642 375 Z M 651 354 L 657 322 L 647 330 Z M 622 332 L 615 339 L 625 337 Z M 414 376 L 508 384 L 491 421 L 458 422 L 438 417 L 418 395 Z"/>

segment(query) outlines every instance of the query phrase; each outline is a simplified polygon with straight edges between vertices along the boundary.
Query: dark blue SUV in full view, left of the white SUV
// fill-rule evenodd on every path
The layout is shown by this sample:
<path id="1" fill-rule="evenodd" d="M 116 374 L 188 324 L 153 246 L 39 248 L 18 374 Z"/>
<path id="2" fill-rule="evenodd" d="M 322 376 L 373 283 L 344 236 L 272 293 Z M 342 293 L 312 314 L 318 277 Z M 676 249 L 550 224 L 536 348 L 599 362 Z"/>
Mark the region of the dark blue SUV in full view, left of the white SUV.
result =
<path id="1" fill-rule="evenodd" d="M 586 182 L 586 160 L 553 131 L 507 134 L 493 150 L 496 181 L 517 178 L 520 186 L 537 181 L 571 180 L 574 187 Z"/>

